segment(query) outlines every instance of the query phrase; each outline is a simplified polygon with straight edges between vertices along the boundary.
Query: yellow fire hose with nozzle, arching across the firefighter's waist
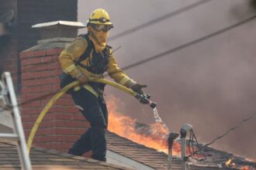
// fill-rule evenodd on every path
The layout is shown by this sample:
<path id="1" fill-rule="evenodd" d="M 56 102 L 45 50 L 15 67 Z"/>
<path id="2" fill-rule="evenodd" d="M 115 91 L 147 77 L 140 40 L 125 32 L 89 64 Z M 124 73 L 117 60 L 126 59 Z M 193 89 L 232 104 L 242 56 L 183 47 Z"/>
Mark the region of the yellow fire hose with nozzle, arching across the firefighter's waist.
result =
<path id="1" fill-rule="evenodd" d="M 136 97 L 137 100 L 144 100 L 144 103 L 149 104 L 150 107 L 153 108 L 153 109 L 154 109 L 154 107 L 157 106 L 157 104 L 155 102 L 149 100 L 149 97 L 147 95 L 136 93 L 133 90 L 130 90 L 127 87 L 124 87 L 124 86 L 120 85 L 119 83 L 115 83 L 115 82 L 112 82 L 110 80 L 106 80 L 106 79 L 102 79 L 102 78 L 91 78 L 91 79 L 89 79 L 89 81 L 92 81 L 92 82 L 95 82 L 95 83 L 105 83 L 105 84 L 107 84 L 109 86 L 116 87 L 119 90 L 123 90 L 124 92 L 130 94 L 131 96 Z M 33 125 L 33 128 L 32 128 L 32 130 L 30 131 L 30 134 L 29 134 L 29 139 L 28 139 L 28 142 L 27 142 L 27 153 L 28 153 L 28 155 L 29 155 L 30 148 L 31 148 L 31 145 L 33 143 L 33 138 L 34 138 L 34 136 L 36 134 L 36 131 L 37 131 L 40 123 L 43 121 L 43 117 L 45 117 L 45 115 L 47 114 L 48 110 L 50 110 L 50 107 L 52 107 L 54 105 L 54 103 L 62 95 L 64 95 L 64 93 L 67 92 L 67 90 L 70 90 L 72 87 L 76 87 L 78 85 L 79 85 L 79 82 L 77 80 L 75 80 L 72 83 L 67 84 L 66 87 L 64 87 L 60 91 L 58 91 L 54 95 L 54 97 L 52 97 L 50 99 L 50 101 L 47 103 L 47 105 L 45 107 L 43 107 L 43 110 L 41 111 L 40 115 L 37 117 L 36 122 Z"/>

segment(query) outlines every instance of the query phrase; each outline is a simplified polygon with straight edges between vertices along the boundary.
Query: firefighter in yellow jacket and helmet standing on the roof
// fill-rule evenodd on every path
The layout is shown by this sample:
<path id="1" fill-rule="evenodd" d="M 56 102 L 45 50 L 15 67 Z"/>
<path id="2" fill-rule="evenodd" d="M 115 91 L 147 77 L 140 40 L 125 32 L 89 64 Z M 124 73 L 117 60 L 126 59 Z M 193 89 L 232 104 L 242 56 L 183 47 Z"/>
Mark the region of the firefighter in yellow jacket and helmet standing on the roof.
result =
<path id="1" fill-rule="evenodd" d="M 112 29 L 109 14 L 103 8 L 95 9 L 88 19 L 88 33 L 78 36 L 59 56 L 62 70 L 80 82 L 71 90 L 74 104 L 88 120 L 91 128 L 68 150 L 72 155 L 83 155 L 92 150 L 92 158 L 106 162 L 106 128 L 108 110 L 103 98 L 104 85 L 88 82 L 88 77 L 101 77 L 106 71 L 117 83 L 144 93 L 141 85 L 123 73 L 112 54 L 112 47 L 106 44 Z"/>

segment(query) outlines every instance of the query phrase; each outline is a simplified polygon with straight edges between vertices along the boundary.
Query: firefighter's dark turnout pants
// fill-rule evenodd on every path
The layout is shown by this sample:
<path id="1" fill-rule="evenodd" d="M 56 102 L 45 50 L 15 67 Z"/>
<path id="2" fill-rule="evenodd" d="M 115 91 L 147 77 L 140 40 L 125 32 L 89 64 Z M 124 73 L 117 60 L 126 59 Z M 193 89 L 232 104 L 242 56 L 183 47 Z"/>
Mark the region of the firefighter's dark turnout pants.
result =
<path id="1" fill-rule="evenodd" d="M 91 124 L 91 128 L 81 135 L 68 153 L 81 156 L 92 150 L 92 158 L 106 162 L 108 110 L 104 98 L 102 96 L 95 97 L 83 87 L 81 90 L 73 91 L 71 95 L 74 103 L 81 107 L 80 111 Z"/>

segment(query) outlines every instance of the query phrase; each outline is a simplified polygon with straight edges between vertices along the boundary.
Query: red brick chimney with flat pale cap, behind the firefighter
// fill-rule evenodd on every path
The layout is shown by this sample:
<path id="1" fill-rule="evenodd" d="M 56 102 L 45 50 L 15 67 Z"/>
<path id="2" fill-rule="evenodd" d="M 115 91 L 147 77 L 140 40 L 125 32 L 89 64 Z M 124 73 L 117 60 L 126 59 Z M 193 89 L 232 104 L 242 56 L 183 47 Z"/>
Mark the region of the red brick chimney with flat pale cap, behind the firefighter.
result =
<path id="1" fill-rule="evenodd" d="M 43 107 L 60 90 L 58 76 L 62 70 L 58 56 L 64 46 L 77 36 L 77 29 L 84 27 L 81 22 L 64 21 L 33 26 L 40 30 L 43 39 L 19 55 L 22 63 L 22 103 L 27 101 L 27 104 L 22 105 L 26 138 Z M 33 145 L 67 151 L 88 126 L 88 122 L 74 107 L 71 96 L 65 94 L 44 117 L 36 131 Z"/>

